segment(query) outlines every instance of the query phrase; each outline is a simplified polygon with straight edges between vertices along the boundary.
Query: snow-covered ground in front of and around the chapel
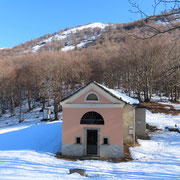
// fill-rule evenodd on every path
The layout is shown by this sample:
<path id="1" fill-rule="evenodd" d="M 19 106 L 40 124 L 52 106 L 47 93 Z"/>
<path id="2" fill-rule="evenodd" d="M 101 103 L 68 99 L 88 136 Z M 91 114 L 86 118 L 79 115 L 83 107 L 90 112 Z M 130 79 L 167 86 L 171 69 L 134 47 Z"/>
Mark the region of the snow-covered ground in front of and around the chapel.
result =
<path id="1" fill-rule="evenodd" d="M 180 126 L 180 115 L 152 114 L 147 122 L 162 131 L 151 140 L 138 140 L 131 148 L 133 161 L 112 163 L 99 160 L 56 159 L 61 148 L 61 121 L 3 125 L 0 128 L 0 179 L 84 179 L 69 174 L 71 168 L 85 169 L 92 179 L 180 179 L 180 134 L 165 126 Z M 23 127 L 24 126 L 24 127 Z"/>

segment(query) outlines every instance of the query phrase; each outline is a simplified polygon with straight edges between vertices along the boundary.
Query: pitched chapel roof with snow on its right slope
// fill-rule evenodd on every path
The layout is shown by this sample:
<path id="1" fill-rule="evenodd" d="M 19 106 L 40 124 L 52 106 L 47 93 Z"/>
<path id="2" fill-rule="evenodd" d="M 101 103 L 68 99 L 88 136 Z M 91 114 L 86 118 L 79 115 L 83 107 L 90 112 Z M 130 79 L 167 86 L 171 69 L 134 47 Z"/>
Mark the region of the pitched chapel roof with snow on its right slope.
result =
<path id="1" fill-rule="evenodd" d="M 87 87 L 89 84 L 95 84 L 97 85 L 99 88 L 103 89 L 104 91 L 106 91 L 108 94 L 110 94 L 111 96 L 115 97 L 116 99 L 118 100 L 121 100 L 127 104 L 131 104 L 131 105 L 138 105 L 139 104 L 139 100 L 137 99 L 134 99 L 134 98 L 131 98 L 125 94 L 122 94 L 120 93 L 119 91 L 116 91 L 114 89 L 110 89 L 110 88 L 107 88 L 106 86 L 102 85 L 102 84 L 99 84 L 95 81 L 93 82 L 89 82 L 88 84 L 86 85 L 83 85 L 82 87 L 80 87 L 79 89 L 77 89 L 76 91 L 74 91 L 71 95 L 67 96 L 66 98 L 62 99 L 61 102 L 63 102 L 64 100 L 70 98 L 71 96 L 73 96 L 74 94 L 78 93 L 79 91 L 81 91 L 82 89 L 84 89 L 85 87 Z"/>

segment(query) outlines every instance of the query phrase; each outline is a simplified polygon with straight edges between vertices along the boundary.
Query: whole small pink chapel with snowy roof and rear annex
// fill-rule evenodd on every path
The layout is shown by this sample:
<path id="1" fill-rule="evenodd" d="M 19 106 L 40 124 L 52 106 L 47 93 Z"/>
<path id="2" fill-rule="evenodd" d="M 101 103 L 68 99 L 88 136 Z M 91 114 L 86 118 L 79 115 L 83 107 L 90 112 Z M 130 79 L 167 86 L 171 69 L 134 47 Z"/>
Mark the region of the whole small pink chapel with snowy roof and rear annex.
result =
<path id="1" fill-rule="evenodd" d="M 84 85 L 60 103 L 63 111 L 62 155 L 124 157 L 146 133 L 146 108 L 97 82 Z"/>

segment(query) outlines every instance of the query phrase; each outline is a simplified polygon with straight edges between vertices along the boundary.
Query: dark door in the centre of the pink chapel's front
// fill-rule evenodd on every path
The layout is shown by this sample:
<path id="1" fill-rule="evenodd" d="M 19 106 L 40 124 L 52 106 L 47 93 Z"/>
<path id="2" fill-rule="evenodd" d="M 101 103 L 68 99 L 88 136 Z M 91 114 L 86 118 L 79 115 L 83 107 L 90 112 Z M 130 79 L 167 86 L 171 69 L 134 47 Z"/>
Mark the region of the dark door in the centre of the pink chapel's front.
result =
<path id="1" fill-rule="evenodd" d="M 87 130 L 87 154 L 97 155 L 98 131 Z"/>

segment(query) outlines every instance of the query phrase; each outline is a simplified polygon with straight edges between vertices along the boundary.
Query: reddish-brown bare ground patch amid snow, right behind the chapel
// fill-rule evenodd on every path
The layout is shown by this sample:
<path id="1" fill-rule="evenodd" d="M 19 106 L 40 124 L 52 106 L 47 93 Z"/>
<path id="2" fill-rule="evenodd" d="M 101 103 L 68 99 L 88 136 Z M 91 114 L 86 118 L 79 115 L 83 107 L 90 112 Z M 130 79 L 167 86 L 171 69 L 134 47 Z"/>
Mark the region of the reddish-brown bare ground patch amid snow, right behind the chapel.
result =
<path id="1" fill-rule="evenodd" d="M 173 102 L 180 104 L 180 102 Z M 166 105 L 166 104 L 159 104 L 155 102 L 143 102 L 144 106 L 147 107 L 149 111 L 152 113 L 164 113 L 164 114 L 171 114 L 171 115 L 178 115 L 180 114 L 180 110 L 176 110 L 172 105 Z"/>

